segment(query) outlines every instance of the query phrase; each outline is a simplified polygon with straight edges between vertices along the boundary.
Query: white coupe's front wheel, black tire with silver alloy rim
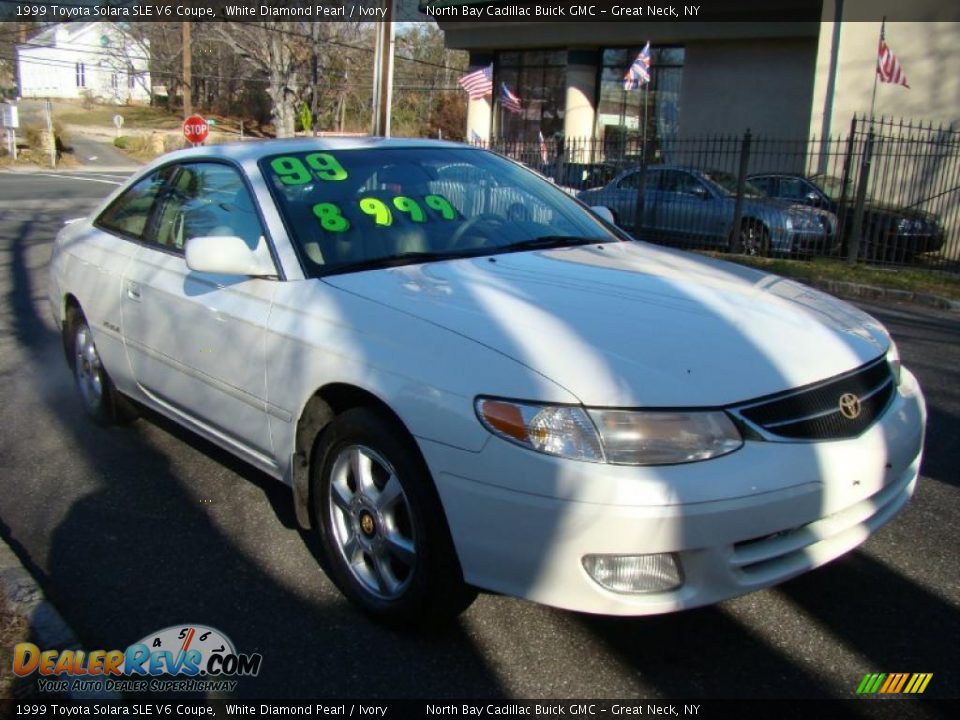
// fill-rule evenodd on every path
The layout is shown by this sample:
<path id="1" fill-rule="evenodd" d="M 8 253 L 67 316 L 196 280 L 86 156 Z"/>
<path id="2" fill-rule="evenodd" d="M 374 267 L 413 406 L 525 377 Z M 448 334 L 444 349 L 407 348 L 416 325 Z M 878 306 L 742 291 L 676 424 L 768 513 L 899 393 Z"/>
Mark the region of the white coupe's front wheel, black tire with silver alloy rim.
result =
<path id="1" fill-rule="evenodd" d="M 369 408 L 345 411 L 318 436 L 311 473 L 331 579 L 364 612 L 419 626 L 473 601 L 429 471 L 399 423 Z"/>

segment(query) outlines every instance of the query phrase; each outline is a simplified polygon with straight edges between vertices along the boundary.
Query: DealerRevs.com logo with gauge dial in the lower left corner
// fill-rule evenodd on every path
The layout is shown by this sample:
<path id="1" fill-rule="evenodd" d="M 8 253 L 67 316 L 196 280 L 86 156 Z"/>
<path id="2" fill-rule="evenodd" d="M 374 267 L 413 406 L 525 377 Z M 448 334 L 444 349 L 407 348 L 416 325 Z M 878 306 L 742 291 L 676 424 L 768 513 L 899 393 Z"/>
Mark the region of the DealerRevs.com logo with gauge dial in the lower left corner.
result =
<path id="1" fill-rule="evenodd" d="M 33 643 L 14 648 L 13 672 L 37 673 L 41 692 L 232 691 L 235 677 L 255 677 L 260 653 L 238 653 L 233 642 L 206 625 L 173 625 L 151 633 L 126 650 L 41 650 Z"/>

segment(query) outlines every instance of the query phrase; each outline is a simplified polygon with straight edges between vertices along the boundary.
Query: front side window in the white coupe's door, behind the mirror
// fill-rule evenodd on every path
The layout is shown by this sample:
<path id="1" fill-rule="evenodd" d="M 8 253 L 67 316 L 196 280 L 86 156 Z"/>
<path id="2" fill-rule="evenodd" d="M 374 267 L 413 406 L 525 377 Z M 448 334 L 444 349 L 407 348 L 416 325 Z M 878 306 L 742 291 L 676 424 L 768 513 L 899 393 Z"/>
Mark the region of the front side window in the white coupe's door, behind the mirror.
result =
<path id="1" fill-rule="evenodd" d="M 164 193 L 153 241 L 183 250 L 204 235 L 235 235 L 253 249 L 263 235 L 253 199 L 240 173 L 219 163 L 181 165 Z"/>

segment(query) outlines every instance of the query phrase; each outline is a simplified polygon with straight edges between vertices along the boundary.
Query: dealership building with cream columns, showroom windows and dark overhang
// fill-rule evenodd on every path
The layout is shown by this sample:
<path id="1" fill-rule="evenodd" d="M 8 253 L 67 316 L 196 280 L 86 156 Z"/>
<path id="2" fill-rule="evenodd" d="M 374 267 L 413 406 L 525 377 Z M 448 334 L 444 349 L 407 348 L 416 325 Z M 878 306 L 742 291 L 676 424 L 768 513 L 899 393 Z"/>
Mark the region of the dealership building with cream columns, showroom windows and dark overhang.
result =
<path id="1" fill-rule="evenodd" d="M 792 5 L 811 19 L 435 19 L 448 47 L 469 51 L 471 69 L 493 66 L 493 96 L 469 102 L 473 139 L 532 141 L 538 133 L 630 139 L 645 131 L 666 142 L 747 128 L 806 138 L 845 133 L 853 115 L 869 113 L 872 103 L 876 115 L 960 127 L 960 5 L 915 0 L 906 11 L 890 0 Z M 910 88 L 880 84 L 873 101 L 884 5 L 890 5 L 886 40 Z M 624 75 L 647 42 L 651 81 L 625 91 Z M 501 107 L 502 83 L 519 96 L 522 112 Z"/>

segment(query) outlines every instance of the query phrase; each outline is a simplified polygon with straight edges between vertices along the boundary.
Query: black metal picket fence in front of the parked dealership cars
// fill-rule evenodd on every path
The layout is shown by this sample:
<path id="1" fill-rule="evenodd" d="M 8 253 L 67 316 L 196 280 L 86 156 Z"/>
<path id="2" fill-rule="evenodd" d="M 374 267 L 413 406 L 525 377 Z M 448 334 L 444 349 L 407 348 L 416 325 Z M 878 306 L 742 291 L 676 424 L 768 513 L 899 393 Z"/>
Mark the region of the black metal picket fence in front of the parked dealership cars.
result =
<path id="1" fill-rule="evenodd" d="M 844 136 L 496 139 L 653 242 L 960 272 L 960 131 L 857 118 Z"/>

